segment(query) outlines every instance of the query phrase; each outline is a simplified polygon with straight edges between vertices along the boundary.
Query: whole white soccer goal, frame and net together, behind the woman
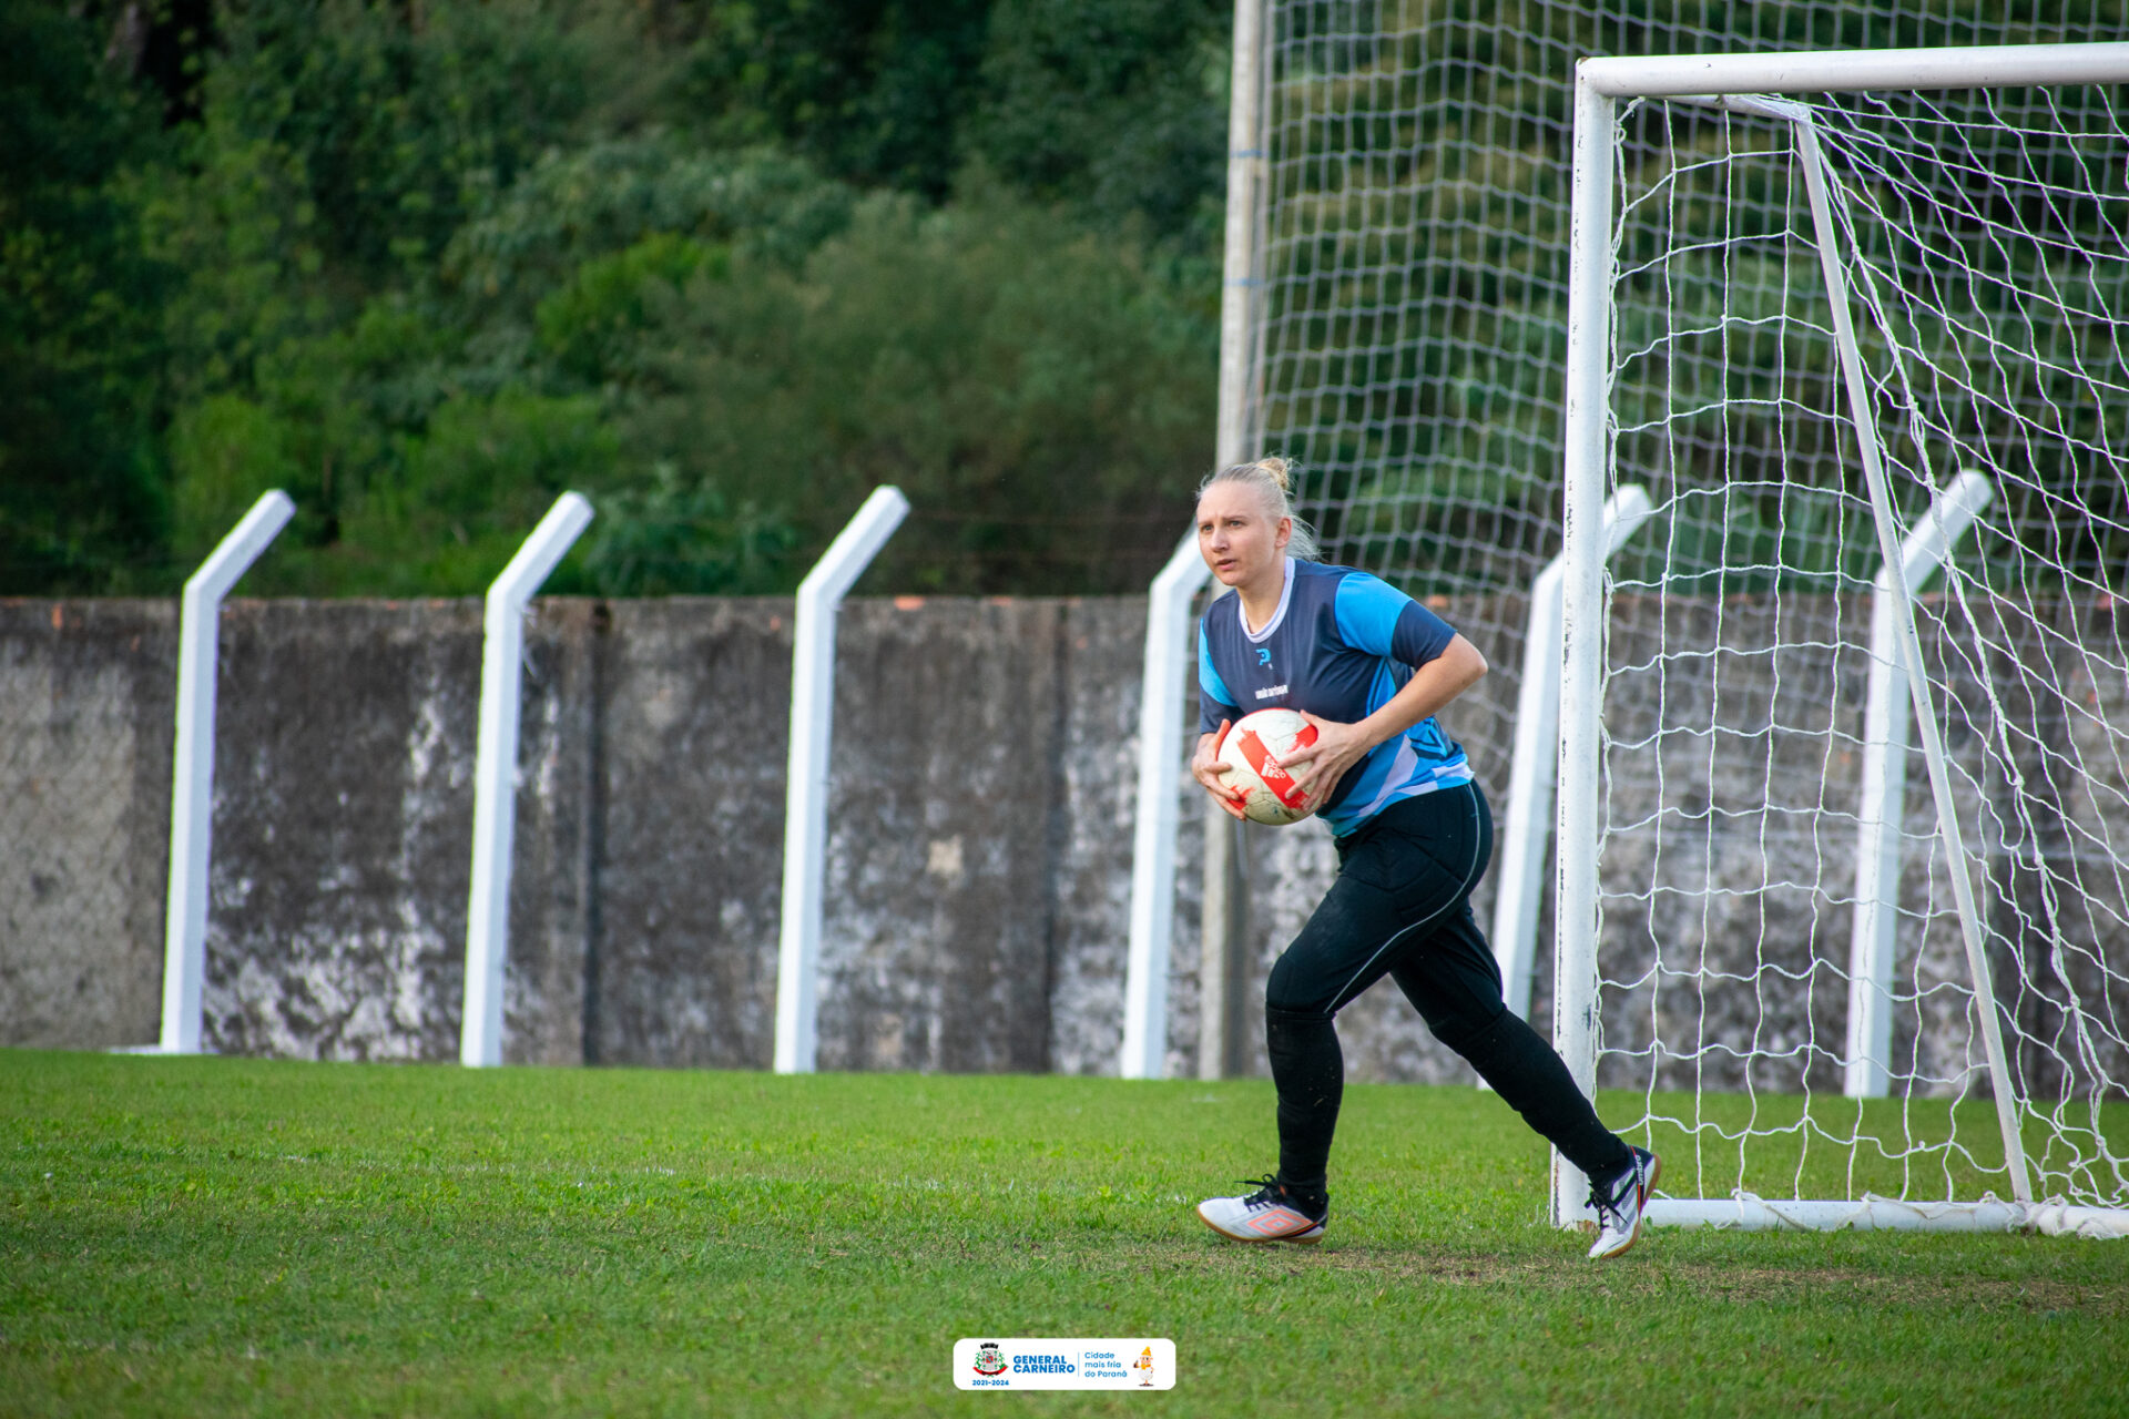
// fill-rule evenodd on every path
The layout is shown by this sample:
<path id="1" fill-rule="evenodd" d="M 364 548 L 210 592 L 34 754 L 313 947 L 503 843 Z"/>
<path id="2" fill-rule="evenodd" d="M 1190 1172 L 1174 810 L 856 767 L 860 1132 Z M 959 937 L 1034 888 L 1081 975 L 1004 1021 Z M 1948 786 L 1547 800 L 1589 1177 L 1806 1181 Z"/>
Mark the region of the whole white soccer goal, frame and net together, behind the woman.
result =
<path id="1" fill-rule="evenodd" d="M 2123 45 L 1582 66 L 1556 1036 L 1654 1221 L 2129 1221 L 2125 123 Z"/>

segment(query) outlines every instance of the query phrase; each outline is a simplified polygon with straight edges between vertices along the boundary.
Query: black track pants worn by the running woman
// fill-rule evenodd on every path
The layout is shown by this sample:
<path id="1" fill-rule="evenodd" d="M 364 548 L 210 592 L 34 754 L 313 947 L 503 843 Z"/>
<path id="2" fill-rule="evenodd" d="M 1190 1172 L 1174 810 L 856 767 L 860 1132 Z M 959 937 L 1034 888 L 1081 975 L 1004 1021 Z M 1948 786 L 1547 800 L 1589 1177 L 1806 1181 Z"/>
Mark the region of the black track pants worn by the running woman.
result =
<path id="1" fill-rule="evenodd" d="M 1592 1179 L 1627 1166 L 1558 1053 L 1501 1000 L 1501 968 L 1471 917 L 1492 857 L 1492 811 L 1475 783 L 1390 804 L 1337 840 L 1339 877 L 1265 987 L 1265 1042 L 1280 1091 L 1280 1176 L 1322 1189 L 1346 1091 L 1333 1019 L 1382 976 L 1443 1045 Z"/>

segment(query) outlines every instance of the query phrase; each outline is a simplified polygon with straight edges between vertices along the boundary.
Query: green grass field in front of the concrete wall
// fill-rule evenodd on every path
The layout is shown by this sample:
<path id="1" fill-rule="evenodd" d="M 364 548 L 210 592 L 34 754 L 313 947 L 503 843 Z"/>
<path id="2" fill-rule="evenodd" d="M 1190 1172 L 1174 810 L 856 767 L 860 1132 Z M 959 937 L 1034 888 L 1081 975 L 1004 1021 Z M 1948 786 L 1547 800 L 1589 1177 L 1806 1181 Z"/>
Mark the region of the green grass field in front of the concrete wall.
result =
<path id="1" fill-rule="evenodd" d="M 1190 1215 L 1271 1166 L 1265 1083 L 0 1051 L 0 1130 L 6 1415 L 2129 1413 L 2129 1242 L 1595 1266 L 1473 1089 L 1348 1091 L 1316 1249 Z M 1130 1334 L 1173 1391 L 947 1372 Z"/>

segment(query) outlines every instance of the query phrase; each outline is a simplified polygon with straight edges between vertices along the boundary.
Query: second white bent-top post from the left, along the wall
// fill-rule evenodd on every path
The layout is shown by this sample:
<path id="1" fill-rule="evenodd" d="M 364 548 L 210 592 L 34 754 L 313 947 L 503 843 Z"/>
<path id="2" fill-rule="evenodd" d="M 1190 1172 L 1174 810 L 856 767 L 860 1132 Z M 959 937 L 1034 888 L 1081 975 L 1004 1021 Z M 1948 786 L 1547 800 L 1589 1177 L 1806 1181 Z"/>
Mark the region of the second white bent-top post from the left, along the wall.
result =
<path id="1" fill-rule="evenodd" d="M 556 562 L 592 523 L 583 494 L 562 494 L 488 587 L 481 738 L 473 755 L 473 889 L 466 900 L 466 1006 L 458 1062 L 502 1064 L 502 964 L 511 942 L 511 845 L 517 828 L 517 691 L 526 611 Z"/>

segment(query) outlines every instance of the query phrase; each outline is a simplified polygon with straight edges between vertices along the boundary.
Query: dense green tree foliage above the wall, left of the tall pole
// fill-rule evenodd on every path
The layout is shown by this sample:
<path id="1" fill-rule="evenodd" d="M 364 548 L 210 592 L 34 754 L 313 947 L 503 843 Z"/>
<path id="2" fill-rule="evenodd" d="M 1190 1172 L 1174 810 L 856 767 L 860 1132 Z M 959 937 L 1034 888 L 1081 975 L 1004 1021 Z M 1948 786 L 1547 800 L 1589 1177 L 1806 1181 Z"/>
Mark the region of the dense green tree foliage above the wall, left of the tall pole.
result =
<path id="1" fill-rule="evenodd" d="M 181 0 L 0 19 L 0 587 L 1143 583 L 1209 457 L 1203 6 Z M 1045 130 L 1041 113 L 1056 115 Z M 89 491 L 92 496 L 79 496 Z"/>

